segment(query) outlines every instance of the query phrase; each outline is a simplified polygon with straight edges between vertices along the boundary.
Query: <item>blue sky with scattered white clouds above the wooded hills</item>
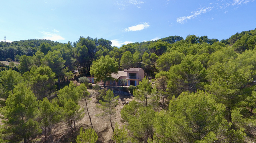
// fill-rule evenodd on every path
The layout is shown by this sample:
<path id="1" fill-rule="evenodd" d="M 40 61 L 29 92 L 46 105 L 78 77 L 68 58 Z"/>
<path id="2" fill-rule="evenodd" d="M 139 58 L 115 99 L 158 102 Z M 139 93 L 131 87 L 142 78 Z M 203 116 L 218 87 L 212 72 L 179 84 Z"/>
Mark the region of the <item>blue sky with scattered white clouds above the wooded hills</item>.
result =
<path id="1" fill-rule="evenodd" d="M 112 46 L 188 34 L 227 39 L 256 28 L 255 0 L 1 0 L 0 41 L 80 36 Z"/>

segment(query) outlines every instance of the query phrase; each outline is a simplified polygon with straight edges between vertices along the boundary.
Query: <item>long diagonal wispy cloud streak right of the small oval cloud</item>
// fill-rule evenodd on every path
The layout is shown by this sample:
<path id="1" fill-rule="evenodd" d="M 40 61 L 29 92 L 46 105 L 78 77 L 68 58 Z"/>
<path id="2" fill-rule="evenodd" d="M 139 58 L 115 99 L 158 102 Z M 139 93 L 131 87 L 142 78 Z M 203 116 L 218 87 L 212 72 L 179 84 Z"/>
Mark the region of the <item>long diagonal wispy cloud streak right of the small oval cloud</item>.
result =
<path id="1" fill-rule="evenodd" d="M 183 24 L 184 22 L 187 21 L 187 19 L 193 19 L 193 18 L 195 18 L 195 17 L 201 15 L 202 13 L 206 13 L 206 12 L 211 11 L 212 9 L 213 9 L 213 7 L 211 7 L 211 6 L 205 7 L 205 8 L 201 8 L 199 11 L 191 12 L 192 15 L 183 16 L 183 17 L 178 17 L 178 18 L 176 19 L 176 21 L 177 21 L 178 23 L 182 23 L 182 24 Z"/>

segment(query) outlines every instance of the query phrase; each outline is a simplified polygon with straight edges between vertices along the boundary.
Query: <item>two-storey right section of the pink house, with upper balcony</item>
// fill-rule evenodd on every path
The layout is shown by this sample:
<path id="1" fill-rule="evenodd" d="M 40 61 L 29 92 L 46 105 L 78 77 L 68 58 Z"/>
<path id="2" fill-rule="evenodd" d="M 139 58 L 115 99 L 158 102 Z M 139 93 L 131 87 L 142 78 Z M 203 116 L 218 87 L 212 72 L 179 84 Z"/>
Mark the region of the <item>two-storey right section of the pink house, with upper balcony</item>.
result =
<path id="1" fill-rule="evenodd" d="M 144 77 L 144 70 L 140 67 L 132 67 L 126 71 L 127 85 L 139 85 Z"/>

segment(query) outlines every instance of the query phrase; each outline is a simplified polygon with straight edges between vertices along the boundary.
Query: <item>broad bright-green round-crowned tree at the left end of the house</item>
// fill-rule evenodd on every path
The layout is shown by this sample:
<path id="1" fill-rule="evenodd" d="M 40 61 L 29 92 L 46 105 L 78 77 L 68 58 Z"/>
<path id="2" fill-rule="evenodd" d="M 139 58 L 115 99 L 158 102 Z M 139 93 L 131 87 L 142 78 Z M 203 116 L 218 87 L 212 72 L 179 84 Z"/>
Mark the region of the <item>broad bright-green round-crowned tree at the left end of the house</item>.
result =
<path id="1" fill-rule="evenodd" d="M 99 82 L 103 80 L 103 86 L 106 87 L 107 80 L 113 80 L 111 74 L 118 72 L 118 63 L 114 58 L 110 58 L 109 55 L 100 57 L 99 60 L 93 61 L 91 65 L 91 76 L 94 76 L 94 81 Z"/>

